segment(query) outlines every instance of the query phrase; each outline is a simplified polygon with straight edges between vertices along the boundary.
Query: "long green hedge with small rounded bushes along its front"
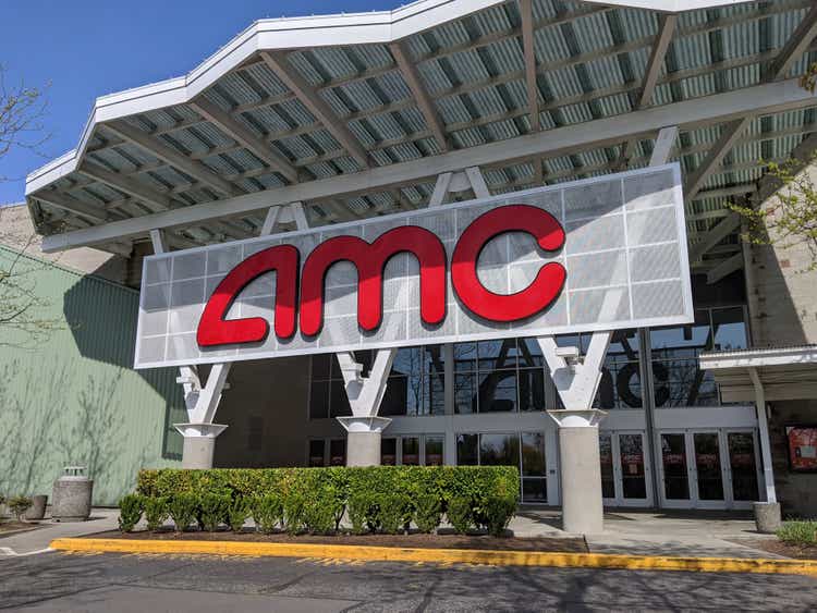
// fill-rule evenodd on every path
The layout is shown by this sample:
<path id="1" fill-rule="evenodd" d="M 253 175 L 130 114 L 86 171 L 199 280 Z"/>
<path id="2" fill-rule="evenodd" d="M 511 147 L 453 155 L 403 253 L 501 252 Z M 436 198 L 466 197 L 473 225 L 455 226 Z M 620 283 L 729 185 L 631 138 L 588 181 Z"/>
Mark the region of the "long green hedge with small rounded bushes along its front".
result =
<path id="1" fill-rule="evenodd" d="M 240 530 L 252 516 L 264 532 L 327 534 L 345 513 L 354 534 L 397 534 L 411 524 L 431 532 L 444 514 L 458 532 L 500 535 L 519 491 L 512 466 L 143 470 L 137 494 L 120 503 L 120 523 L 133 529 L 144 513 L 149 529 L 170 517 L 176 529 L 196 520 L 202 529 Z"/>

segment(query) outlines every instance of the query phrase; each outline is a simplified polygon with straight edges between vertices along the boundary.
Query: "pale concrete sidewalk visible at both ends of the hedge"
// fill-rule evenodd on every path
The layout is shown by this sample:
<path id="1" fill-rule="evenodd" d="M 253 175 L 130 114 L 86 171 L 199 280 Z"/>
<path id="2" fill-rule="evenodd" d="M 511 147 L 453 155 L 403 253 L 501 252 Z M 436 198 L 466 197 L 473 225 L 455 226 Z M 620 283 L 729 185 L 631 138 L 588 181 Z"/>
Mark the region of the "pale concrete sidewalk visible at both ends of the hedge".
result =
<path id="1" fill-rule="evenodd" d="M 560 511 L 523 506 L 509 529 L 517 537 L 574 538 L 560 529 Z M 36 530 L 0 536 L 0 556 L 46 550 L 57 538 L 71 538 L 117 528 L 119 512 L 95 508 L 92 520 L 57 524 L 47 519 Z M 590 553 L 698 557 L 780 557 L 733 541 L 775 539 L 760 535 L 747 513 L 696 511 L 608 511 L 605 531 L 585 535 Z M 5 549 L 8 548 L 8 549 Z"/>

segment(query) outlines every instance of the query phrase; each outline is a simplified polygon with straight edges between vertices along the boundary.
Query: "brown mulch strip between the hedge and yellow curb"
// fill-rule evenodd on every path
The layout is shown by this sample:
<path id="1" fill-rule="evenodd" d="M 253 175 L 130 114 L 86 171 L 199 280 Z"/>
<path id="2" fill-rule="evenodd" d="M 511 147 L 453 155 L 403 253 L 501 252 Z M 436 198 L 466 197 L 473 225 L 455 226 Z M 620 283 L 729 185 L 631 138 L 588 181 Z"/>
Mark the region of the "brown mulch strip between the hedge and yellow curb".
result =
<path id="1" fill-rule="evenodd" d="M 256 531 L 240 534 L 227 530 L 218 532 L 174 532 L 162 530 L 148 532 L 146 530 L 122 534 L 117 530 L 97 532 L 84 538 L 108 538 L 125 540 L 204 540 L 204 541 L 245 541 L 245 542 L 280 542 L 280 543 L 315 543 L 315 544 L 351 544 L 371 547 L 404 547 L 420 549 L 490 549 L 507 551 L 552 551 L 562 553 L 588 553 L 587 543 L 582 538 L 496 538 L 488 535 L 298 535 L 284 532 L 264 535 Z"/>

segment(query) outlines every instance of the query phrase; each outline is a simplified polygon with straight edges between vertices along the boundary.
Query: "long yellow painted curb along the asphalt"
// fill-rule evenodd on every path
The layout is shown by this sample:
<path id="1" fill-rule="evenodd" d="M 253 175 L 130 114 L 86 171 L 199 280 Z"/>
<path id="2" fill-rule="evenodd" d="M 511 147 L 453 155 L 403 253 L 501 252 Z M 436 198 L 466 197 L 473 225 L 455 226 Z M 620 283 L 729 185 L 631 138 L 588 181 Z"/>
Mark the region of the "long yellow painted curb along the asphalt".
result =
<path id="1" fill-rule="evenodd" d="M 817 577 L 817 561 L 741 557 L 667 557 L 607 553 L 551 553 L 476 549 L 418 549 L 350 544 L 276 543 L 246 541 L 56 539 L 51 549 L 94 553 L 167 553 L 316 557 L 369 562 L 429 562 L 495 566 L 557 566 L 624 568 L 630 571 L 692 571 L 699 573 L 772 573 Z"/>

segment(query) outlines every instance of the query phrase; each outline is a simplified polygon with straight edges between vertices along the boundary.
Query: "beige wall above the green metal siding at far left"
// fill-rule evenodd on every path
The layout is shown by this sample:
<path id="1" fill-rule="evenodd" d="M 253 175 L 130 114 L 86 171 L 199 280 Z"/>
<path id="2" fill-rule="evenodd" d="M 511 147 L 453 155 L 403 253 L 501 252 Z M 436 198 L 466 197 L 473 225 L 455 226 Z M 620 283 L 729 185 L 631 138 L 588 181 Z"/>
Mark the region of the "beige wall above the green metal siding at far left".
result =
<path id="1" fill-rule="evenodd" d="M 88 247 L 60 254 L 44 254 L 41 243 L 42 236 L 35 234 L 25 204 L 0 207 L 0 244 L 40 259 L 58 262 L 77 272 L 94 273 L 114 283 L 127 284 L 129 258 Z"/>

